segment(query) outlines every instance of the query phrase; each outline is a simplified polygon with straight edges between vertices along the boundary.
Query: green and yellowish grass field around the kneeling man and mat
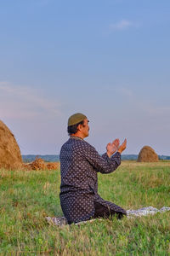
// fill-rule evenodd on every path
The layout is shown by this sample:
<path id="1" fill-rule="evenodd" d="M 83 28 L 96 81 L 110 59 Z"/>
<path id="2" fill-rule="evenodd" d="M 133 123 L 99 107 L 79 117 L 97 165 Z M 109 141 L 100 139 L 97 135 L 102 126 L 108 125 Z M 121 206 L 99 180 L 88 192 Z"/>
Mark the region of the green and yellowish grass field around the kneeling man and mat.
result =
<path id="1" fill-rule="evenodd" d="M 0 254 L 170 255 L 170 212 L 49 226 L 45 216 L 62 216 L 59 183 L 59 171 L 0 170 Z M 123 161 L 99 174 L 99 195 L 125 209 L 170 207 L 170 162 Z"/>

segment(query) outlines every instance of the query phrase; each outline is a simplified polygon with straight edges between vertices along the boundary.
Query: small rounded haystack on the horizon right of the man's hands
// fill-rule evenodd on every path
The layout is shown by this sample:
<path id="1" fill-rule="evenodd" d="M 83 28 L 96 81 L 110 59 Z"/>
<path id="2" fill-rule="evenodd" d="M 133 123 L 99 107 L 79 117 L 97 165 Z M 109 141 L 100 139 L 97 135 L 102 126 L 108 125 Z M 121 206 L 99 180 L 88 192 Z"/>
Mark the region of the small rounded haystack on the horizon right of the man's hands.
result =
<path id="1" fill-rule="evenodd" d="M 158 155 L 150 146 L 144 146 L 139 152 L 138 162 L 158 162 L 158 160 Z"/>

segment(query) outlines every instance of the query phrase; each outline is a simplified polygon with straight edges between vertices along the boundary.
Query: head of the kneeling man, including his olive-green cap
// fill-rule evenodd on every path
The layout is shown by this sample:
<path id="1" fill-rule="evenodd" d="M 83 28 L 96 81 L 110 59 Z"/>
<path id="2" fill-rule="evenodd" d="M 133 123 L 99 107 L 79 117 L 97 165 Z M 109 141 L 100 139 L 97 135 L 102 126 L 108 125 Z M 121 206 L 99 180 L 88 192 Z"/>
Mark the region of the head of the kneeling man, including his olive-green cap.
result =
<path id="1" fill-rule="evenodd" d="M 82 113 L 74 113 L 68 119 L 68 134 L 77 137 L 88 137 L 88 119 Z"/>

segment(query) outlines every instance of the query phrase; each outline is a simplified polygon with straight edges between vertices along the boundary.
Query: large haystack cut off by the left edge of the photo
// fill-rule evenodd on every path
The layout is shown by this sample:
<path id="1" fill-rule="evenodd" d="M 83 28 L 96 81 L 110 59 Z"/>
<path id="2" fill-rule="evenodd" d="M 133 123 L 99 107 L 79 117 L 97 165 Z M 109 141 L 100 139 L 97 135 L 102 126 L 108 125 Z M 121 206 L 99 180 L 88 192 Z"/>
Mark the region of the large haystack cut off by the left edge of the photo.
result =
<path id="1" fill-rule="evenodd" d="M 0 120 L 0 168 L 16 169 L 22 165 L 20 148 L 14 134 Z"/>

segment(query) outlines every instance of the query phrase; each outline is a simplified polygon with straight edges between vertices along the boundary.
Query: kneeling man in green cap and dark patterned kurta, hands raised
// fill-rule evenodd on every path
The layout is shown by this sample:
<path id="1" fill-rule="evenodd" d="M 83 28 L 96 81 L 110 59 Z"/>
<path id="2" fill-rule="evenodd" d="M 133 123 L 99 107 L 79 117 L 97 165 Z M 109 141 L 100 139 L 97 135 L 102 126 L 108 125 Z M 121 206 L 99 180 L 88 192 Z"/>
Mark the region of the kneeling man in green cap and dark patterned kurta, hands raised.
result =
<path id="1" fill-rule="evenodd" d="M 108 218 L 114 214 L 122 218 L 127 214 L 124 209 L 98 195 L 97 172 L 105 174 L 116 170 L 121 164 L 121 153 L 126 148 L 126 140 L 121 146 L 118 139 L 108 143 L 107 152 L 100 156 L 93 146 L 84 141 L 88 137 L 89 126 L 87 117 L 82 113 L 71 115 L 67 131 L 70 138 L 59 154 L 59 197 L 68 224 L 90 218 Z"/>

